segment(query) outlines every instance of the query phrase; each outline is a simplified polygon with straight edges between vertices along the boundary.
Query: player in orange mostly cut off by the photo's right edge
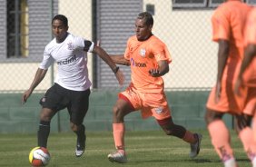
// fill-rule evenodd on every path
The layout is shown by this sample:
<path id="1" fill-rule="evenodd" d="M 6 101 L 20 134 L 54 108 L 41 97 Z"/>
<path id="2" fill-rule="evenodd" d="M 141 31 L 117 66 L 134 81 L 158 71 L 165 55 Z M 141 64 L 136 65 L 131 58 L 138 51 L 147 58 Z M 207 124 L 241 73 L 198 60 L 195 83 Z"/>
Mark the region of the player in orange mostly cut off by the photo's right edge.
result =
<path id="1" fill-rule="evenodd" d="M 252 129 L 256 140 L 256 8 L 253 8 L 248 16 L 244 44 L 244 58 L 235 84 L 235 93 L 241 96 L 241 87 L 248 89 L 243 113 L 249 117 L 254 116 Z"/>

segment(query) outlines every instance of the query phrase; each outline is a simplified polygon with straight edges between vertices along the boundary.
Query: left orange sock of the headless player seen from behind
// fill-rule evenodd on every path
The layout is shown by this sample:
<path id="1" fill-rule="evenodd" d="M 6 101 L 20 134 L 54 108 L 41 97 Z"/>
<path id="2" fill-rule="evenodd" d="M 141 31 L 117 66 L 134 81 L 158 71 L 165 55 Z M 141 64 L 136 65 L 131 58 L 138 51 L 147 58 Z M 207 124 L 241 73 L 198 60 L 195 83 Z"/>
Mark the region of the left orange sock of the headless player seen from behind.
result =
<path id="1" fill-rule="evenodd" d="M 219 154 L 222 162 L 233 158 L 233 152 L 230 145 L 230 133 L 222 120 L 213 121 L 208 125 L 208 131 L 212 138 L 212 145 Z"/>

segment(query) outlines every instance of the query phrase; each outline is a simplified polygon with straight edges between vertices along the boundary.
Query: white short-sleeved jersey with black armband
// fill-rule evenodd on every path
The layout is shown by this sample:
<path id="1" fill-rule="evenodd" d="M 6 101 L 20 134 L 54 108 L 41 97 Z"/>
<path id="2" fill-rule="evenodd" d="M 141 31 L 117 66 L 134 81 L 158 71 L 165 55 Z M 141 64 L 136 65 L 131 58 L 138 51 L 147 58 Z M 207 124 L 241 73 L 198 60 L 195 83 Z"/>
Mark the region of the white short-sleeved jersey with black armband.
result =
<path id="1" fill-rule="evenodd" d="M 69 90 L 87 90 L 92 83 L 88 77 L 87 53 L 85 51 L 93 52 L 93 49 L 93 42 L 68 33 L 64 42 L 58 44 L 54 38 L 45 46 L 44 59 L 39 68 L 48 69 L 56 62 L 58 73 L 54 83 Z"/>

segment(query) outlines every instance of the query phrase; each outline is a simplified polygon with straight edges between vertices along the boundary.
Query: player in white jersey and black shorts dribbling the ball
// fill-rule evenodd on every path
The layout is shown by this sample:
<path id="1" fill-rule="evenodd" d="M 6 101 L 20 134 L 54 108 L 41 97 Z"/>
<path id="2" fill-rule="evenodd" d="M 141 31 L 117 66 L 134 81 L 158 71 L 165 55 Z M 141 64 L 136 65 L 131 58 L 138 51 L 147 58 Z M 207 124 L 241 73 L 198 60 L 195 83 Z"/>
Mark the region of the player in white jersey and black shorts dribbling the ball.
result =
<path id="1" fill-rule="evenodd" d="M 42 82 L 48 68 L 56 62 L 58 73 L 54 85 L 47 90 L 40 103 L 38 146 L 47 147 L 50 123 L 54 114 L 67 108 L 70 115 L 71 129 L 77 135 L 75 156 L 80 157 L 85 149 L 84 116 L 89 107 L 91 82 L 88 77 L 87 52 L 98 54 L 113 70 L 117 81 L 123 84 L 123 73 L 110 56 L 94 42 L 74 36 L 68 31 L 68 20 L 64 15 L 55 15 L 52 20 L 54 39 L 45 46 L 42 63 L 34 75 L 29 89 L 22 96 L 25 103 L 34 88 Z"/>

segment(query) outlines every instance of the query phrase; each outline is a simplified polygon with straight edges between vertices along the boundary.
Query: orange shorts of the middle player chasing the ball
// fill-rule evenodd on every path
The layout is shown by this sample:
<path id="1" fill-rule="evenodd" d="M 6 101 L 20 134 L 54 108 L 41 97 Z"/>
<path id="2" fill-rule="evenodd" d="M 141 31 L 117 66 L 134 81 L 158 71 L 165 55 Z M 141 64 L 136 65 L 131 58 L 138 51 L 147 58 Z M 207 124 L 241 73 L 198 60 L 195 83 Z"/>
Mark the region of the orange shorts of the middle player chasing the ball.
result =
<path id="1" fill-rule="evenodd" d="M 130 84 L 119 97 L 128 100 L 133 105 L 134 111 L 141 110 L 143 119 L 153 116 L 156 120 L 163 120 L 171 117 L 164 93 L 140 93 Z"/>

